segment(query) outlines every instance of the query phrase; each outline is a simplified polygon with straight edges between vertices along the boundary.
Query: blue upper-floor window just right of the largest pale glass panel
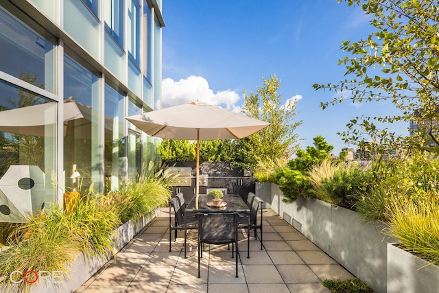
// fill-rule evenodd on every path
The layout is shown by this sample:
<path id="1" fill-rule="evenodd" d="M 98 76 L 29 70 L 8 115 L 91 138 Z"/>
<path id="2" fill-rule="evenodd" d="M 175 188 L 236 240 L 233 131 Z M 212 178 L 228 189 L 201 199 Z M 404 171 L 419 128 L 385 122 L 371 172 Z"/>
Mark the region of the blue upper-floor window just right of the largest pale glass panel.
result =
<path id="1" fill-rule="evenodd" d="M 123 0 L 107 0 L 104 4 L 105 28 L 123 48 Z"/>

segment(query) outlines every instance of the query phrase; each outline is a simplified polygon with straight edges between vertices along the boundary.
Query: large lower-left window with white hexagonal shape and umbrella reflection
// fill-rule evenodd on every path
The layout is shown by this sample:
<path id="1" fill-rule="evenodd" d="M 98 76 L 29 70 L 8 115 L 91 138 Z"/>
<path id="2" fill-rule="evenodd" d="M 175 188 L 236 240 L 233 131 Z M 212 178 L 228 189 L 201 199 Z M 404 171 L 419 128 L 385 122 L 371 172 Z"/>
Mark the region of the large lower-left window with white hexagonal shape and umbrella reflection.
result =
<path id="1" fill-rule="evenodd" d="M 0 81 L 0 250 L 8 248 L 7 223 L 57 204 L 57 103 Z"/>

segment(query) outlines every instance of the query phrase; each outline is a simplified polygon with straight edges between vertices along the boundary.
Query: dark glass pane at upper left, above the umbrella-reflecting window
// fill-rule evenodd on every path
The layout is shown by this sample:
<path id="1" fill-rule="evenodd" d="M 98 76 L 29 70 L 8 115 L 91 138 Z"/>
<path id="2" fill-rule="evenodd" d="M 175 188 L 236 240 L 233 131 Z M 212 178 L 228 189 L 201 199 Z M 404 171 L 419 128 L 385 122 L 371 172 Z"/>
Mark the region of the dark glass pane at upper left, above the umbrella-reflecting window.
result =
<path id="1" fill-rule="evenodd" d="M 0 7 L 0 71 L 55 93 L 54 41 Z"/>

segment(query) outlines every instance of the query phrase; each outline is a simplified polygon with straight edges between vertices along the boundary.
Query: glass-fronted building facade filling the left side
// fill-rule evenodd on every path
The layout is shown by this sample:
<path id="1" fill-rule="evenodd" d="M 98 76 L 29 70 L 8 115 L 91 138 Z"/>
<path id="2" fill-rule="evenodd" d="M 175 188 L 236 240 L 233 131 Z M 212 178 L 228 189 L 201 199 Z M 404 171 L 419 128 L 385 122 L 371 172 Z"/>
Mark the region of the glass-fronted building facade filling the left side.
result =
<path id="1" fill-rule="evenodd" d="M 155 158 L 125 117 L 161 108 L 164 26 L 161 0 L 0 1 L 0 224 Z"/>

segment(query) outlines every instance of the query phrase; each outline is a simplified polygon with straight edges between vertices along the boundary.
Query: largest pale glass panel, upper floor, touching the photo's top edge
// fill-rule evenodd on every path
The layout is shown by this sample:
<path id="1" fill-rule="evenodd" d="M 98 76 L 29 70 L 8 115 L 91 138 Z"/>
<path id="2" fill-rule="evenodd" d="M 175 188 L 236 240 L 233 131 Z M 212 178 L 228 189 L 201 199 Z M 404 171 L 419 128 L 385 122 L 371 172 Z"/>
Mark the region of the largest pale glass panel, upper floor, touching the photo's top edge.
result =
<path id="1" fill-rule="evenodd" d="M 93 57 L 100 59 L 99 20 L 78 0 L 64 1 L 64 30 Z"/>

